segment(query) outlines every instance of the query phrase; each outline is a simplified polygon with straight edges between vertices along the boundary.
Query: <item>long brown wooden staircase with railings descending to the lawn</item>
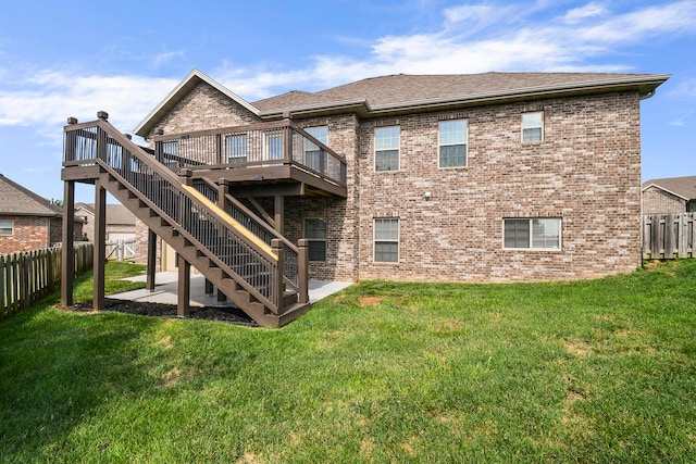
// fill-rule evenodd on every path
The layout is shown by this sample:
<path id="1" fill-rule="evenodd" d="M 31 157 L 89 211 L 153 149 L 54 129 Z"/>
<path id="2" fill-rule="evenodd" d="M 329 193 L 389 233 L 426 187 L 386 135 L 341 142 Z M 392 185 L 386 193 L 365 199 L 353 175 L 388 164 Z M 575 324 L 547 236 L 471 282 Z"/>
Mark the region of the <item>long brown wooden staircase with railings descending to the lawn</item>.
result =
<path id="1" fill-rule="evenodd" d="M 78 147 L 86 145 L 84 140 L 80 145 L 80 137 L 94 140 L 91 158 L 85 153 L 73 158 L 88 162 L 84 164 L 91 166 L 92 176 L 97 176 L 95 183 L 235 305 L 258 324 L 273 327 L 281 327 L 310 309 L 307 294 L 298 293 L 298 288 L 307 289 L 306 281 L 293 288 L 283 274 L 286 239 L 274 239 L 269 246 L 107 121 L 91 124 L 96 129 L 85 130 L 83 124 L 72 139 L 66 137 L 66 160 L 71 158 L 71 140 Z M 66 134 L 70 127 L 66 126 Z M 307 279 L 306 266 L 300 274 L 303 275 L 299 279 Z"/>

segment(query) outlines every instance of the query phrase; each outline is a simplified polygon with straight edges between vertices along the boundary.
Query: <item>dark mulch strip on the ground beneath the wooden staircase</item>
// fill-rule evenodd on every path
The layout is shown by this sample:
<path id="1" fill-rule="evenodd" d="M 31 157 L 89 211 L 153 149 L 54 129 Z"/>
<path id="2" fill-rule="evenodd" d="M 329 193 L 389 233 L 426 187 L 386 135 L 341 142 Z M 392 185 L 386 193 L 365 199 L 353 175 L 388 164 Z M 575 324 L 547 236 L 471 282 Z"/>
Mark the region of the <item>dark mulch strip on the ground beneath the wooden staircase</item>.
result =
<path id="1" fill-rule="evenodd" d="M 70 306 L 69 310 L 91 314 L 96 313 L 92 306 L 94 304 L 91 301 L 86 301 L 76 303 Z M 145 301 L 116 300 L 107 298 L 103 311 L 136 314 L 139 316 L 191 318 L 217 321 L 245 326 L 258 326 L 258 324 L 253 322 L 252 318 L 250 318 L 241 310 L 236 308 L 191 306 L 190 313 L 187 317 L 179 317 L 176 314 L 176 305 L 174 304 L 149 303 Z"/>

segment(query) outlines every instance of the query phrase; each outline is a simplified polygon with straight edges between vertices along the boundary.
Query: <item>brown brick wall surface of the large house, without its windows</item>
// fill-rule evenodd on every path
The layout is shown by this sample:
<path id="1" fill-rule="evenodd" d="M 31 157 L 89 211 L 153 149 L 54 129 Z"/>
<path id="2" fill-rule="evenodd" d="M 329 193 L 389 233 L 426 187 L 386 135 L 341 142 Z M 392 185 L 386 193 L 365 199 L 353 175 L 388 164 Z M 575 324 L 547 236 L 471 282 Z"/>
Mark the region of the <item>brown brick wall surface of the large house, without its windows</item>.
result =
<path id="1" fill-rule="evenodd" d="M 545 140 L 522 143 L 521 114 L 543 111 Z M 469 165 L 438 168 L 437 123 L 469 123 Z M 257 122 L 216 90 L 197 87 L 158 127 L 165 133 Z M 286 199 L 285 230 L 328 222 L 327 262 L 313 278 L 447 281 L 576 279 L 630 272 L 639 260 L 641 136 L 637 93 L 548 99 L 328 125 L 348 162 L 348 198 Z M 398 172 L 374 172 L 376 126 L 399 125 Z M 431 198 L 425 198 L 425 192 Z M 272 211 L 272 206 L 271 206 Z M 400 261 L 373 262 L 373 221 L 400 220 Z M 505 250 L 506 217 L 560 217 L 560 251 Z"/>

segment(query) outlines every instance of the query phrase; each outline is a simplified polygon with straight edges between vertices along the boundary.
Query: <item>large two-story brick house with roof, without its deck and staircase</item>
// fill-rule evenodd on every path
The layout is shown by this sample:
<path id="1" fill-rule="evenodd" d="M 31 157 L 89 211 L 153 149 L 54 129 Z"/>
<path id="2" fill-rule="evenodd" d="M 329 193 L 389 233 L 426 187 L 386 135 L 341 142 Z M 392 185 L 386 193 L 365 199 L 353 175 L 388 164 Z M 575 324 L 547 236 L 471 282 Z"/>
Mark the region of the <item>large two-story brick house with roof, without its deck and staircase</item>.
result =
<path id="1" fill-rule="evenodd" d="M 343 156 L 345 195 L 273 184 L 274 203 L 249 181 L 229 187 L 261 213 L 281 205 L 275 227 L 311 240 L 313 278 L 591 278 L 639 262 L 639 103 L 668 78 L 391 75 L 250 103 L 192 71 L 135 133 L 176 152 L 196 131 L 291 120 Z M 264 137 L 273 160 L 279 141 Z M 247 162 L 246 135 L 222 143 Z"/>

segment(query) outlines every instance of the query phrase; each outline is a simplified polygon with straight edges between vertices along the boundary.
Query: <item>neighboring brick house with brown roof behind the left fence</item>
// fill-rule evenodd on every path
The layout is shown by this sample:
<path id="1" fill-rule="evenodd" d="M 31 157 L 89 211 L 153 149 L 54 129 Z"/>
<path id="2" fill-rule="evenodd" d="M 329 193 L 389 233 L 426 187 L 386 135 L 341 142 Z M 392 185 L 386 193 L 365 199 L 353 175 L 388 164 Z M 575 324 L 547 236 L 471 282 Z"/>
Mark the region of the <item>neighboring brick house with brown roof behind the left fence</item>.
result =
<path id="1" fill-rule="evenodd" d="M 0 253 L 38 250 L 60 243 L 63 210 L 0 174 Z M 75 223 L 75 240 L 82 221 Z"/>

